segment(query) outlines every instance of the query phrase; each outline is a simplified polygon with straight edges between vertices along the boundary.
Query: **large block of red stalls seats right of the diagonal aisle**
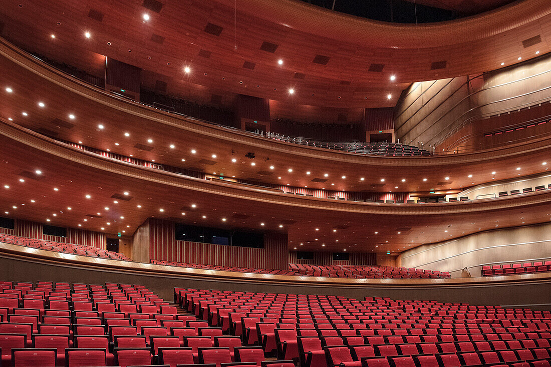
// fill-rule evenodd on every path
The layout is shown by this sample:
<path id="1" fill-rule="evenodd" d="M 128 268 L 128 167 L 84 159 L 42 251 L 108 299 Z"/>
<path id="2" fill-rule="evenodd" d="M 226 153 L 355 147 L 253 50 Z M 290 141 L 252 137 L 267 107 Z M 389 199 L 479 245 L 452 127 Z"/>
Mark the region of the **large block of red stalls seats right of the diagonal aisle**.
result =
<path id="1" fill-rule="evenodd" d="M 551 313 L 530 309 L 185 288 L 175 288 L 175 302 L 244 344 L 303 367 L 333 366 L 327 350 L 339 346 L 389 363 L 405 354 L 461 359 L 462 353 L 498 350 L 521 363 L 545 357 L 551 341 Z M 359 358 L 353 362 L 360 365 Z"/>

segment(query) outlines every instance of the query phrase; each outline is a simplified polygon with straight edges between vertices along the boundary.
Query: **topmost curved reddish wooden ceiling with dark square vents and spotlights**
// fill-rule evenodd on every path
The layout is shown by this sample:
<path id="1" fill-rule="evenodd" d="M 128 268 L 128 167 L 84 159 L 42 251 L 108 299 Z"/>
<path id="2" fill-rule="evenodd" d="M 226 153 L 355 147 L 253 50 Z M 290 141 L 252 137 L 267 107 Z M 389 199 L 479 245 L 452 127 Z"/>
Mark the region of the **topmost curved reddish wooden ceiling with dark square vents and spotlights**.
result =
<path id="1" fill-rule="evenodd" d="M 548 52 L 551 39 L 546 0 L 417 26 L 293 0 L 7 0 L 0 21 L 10 40 L 46 56 L 96 73 L 104 55 L 113 57 L 143 68 L 145 85 L 168 81 L 183 96 L 239 93 L 345 108 L 393 106 L 413 81 L 514 64 Z"/>

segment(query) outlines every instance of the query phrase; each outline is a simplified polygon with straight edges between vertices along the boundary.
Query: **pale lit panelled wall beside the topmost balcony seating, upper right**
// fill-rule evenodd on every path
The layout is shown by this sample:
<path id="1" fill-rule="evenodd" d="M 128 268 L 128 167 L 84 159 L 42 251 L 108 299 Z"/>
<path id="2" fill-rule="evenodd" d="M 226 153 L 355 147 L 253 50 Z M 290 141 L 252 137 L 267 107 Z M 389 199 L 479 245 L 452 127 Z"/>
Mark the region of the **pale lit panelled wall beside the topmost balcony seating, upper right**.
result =
<path id="1" fill-rule="evenodd" d="M 483 75 L 414 83 L 395 108 L 396 138 L 438 147 L 465 125 L 551 100 L 550 75 L 547 54 Z"/>

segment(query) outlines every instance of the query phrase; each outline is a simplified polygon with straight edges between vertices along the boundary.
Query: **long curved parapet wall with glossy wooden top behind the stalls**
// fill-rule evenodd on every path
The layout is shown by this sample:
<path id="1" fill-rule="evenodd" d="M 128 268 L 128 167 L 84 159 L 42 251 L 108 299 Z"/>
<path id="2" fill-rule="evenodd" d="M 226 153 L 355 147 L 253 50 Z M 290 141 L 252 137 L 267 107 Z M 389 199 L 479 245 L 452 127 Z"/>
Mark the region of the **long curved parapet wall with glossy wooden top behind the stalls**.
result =
<path id="1" fill-rule="evenodd" d="M 87 258 L 4 243 L 0 243 L 0 279 L 24 282 L 42 280 L 91 284 L 143 284 L 168 300 L 172 299 L 174 287 L 190 287 L 245 292 L 343 295 L 356 299 L 377 296 L 551 309 L 551 293 L 544 291 L 551 287 L 549 273 L 438 280 L 294 277 Z"/>

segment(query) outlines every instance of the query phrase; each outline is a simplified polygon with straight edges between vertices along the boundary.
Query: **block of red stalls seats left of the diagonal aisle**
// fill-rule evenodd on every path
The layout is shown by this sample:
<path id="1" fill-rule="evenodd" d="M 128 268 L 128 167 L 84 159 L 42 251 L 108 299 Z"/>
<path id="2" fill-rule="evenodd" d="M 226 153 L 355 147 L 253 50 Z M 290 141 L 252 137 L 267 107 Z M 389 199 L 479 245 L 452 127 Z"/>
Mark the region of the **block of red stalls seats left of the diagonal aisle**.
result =
<path id="1" fill-rule="evenodd" d="M 244 348 L 221 328 L 177 314 L 143 286 L 0 282 L 0 287 L 0 305 L 6 306 L 0 308 L 2 367 L 292 366 L 266 361 L 262 348 Z"/>

